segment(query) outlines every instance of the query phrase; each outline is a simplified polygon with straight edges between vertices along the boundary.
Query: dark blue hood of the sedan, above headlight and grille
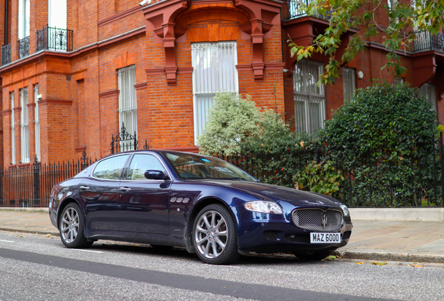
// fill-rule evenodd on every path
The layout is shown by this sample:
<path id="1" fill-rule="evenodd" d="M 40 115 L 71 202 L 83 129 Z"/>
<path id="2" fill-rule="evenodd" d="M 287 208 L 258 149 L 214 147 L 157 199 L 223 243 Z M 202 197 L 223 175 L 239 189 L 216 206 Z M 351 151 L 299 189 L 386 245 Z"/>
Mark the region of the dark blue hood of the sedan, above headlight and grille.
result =
<path id="1" fill-rule="evenodd" d="M 265 183 L 254 183 L 237 180 L 211 180 L 205 181 L 207 183 L 214 183 L 219 185 L 229 185 L 237 190 L 242 190 L 257 197 L 258 199 L 271 199 L 273 201 L 286 201 L 293 204 L 293 206 L 324 206 L 324 207 L 339 207 L 339 201 L 336 203 L 328 196 L 316 194 L 313 192 L 306 192 L 302 190 L 295 190 L 294 188 L 282 187 L 276 185 L 269 185 Z"/>

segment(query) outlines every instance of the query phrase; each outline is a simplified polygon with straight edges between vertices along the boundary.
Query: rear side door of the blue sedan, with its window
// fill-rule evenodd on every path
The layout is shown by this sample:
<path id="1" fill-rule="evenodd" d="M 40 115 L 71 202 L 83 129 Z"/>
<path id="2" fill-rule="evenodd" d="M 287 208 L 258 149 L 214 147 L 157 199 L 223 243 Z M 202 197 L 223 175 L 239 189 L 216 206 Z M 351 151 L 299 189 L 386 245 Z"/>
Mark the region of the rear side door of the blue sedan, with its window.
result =
<path id="1" fill-rule="evenodd" d="M 117 155 L 101 160 L 91 176 L 79 186 L 84 202 L 87 229 L 119 231 L 117 199 L 121 172 L 129 155 Z"/>

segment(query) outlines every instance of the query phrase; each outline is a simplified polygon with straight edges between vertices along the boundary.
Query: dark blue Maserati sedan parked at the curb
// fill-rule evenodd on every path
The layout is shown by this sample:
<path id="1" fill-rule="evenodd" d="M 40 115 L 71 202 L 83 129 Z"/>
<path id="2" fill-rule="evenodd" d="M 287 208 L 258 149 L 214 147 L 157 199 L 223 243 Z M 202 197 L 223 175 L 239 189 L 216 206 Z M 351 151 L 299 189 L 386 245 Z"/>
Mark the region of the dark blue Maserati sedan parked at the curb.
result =
<path id="1" fill-rule="evenodd" d="M 330 196 L 260 183 L 215 157 L 131 151 L 54 185 L 50 219 L 68 248 L 99 239 L 185 247 L 205 263 L 249 252 L 320 260 L 343 247 L 352 223 Z"/>

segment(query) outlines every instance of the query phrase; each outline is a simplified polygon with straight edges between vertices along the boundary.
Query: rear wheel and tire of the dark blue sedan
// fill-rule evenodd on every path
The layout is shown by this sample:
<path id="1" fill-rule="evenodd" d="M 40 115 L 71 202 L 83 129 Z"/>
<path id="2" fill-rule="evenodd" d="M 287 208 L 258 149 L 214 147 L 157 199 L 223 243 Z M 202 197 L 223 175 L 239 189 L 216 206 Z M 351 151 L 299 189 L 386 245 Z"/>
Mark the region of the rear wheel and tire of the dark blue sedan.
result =
<path id="1" fill-rule="evenodd" d="M 91 247 L 93 242 L 84 236 L 82 210 L 76 203 L 68 203 L 60 215 L 59 233 L 61 242 L 68 248 L 82 249 Z"/>

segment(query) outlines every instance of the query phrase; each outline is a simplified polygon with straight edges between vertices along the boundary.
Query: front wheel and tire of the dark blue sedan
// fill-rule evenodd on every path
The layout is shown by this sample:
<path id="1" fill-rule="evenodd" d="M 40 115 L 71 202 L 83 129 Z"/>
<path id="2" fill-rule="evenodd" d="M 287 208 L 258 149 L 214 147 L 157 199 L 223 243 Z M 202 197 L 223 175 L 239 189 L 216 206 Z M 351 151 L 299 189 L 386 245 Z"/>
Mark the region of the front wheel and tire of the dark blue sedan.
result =
<path id="1" fill-rule="evenodd" d="M 212 204 L 200 210 L 193 225 L 193 245 L 205 263 L 229 264 L 240 257 L 237 225 L 227 208 Z"/>

